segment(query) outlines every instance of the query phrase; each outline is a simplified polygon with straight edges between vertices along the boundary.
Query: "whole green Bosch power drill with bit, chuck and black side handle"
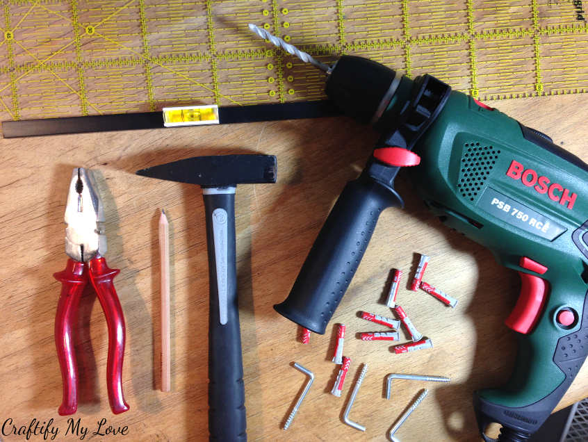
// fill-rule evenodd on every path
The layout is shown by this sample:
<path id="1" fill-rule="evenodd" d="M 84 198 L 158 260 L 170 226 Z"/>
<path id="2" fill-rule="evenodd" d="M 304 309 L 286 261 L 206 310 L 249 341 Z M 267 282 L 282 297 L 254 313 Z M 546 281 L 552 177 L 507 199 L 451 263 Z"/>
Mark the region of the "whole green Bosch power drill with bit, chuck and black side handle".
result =
<path id="1" fill-rule="evenodd" d="M 530 129 L 429 75 L 411 80 L 373 60 L 333 66 L 250 25 L 252 31 L 327 72 L 341 110 L 382 133 L 359 178 L 329 213 L 288 298 L 275 309 L 325 333 L 368 246 L 379 214 L 402 207 L 403 165 L 425 204 L 521 276 L 506 324 L 516 331 L 514 373 L 474 394 L 480 434 L 526 441 L 549 416 L 588 354 L 588 166 Z"/>

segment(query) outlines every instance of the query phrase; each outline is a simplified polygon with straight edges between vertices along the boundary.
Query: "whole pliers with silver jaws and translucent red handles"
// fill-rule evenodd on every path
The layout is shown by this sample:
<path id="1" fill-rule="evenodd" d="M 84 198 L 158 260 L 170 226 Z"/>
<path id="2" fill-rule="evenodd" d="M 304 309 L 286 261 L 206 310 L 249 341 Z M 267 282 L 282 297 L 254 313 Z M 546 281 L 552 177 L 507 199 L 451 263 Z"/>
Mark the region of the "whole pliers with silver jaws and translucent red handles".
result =
<path id="1" fill-rule="evenodd" d="M 129 409 L 122 394 L 124 316 L 113 285 L 113 278 L 120 270 L 108 268 L 103 257 L 106 252 L 104 220 L 104 208 L 91 172 L 76 167 L 65 205 L 65 253 L 70 259 L 63 272 L 54 274 L 62 284 L 55 317 L 55 345 L 63 379 L 63 402 L 58 410 L 61 416 L 74 414 L 78 407 L 73 325 L 88 279 L 96 290 L 108 325 L 108 400 L 114 414 Z"/>

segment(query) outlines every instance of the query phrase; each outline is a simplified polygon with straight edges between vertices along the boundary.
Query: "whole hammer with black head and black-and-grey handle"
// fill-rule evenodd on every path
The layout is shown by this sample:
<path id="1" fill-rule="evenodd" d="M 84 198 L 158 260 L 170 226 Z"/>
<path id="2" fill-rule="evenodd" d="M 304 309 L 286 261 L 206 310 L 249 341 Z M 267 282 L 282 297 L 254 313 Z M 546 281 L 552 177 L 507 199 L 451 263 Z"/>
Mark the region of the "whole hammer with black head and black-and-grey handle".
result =
<path id="1" fill-rule="evenodd" d="M 209 250 L 209 431 L 211 441 L 246 441 L 245 388 L 235 262 L 235 188 L 275 183 L 276 157 L 195 156 L 138 175 L 202 186 Z"/>

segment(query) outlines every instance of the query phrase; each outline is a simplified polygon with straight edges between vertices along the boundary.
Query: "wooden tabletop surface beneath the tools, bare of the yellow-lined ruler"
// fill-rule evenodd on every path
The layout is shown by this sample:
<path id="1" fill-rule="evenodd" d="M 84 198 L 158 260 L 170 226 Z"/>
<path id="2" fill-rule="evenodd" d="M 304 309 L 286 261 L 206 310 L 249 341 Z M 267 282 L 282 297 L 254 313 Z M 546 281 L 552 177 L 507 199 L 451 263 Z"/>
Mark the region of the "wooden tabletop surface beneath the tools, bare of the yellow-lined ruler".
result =
<path id="1" fill-rule="evenodd" d="M 491 103 L 553 136 L 588 159 L 586 95 Z M 507 379 L 516 347 L 503 321 L 520 283 L 495 263 L 487 249 L 443 227 L 415 197 L 407 177 L 397 188 L 406 208 L 385 211 L 347 295 L 324 336 L 310 345 L 297 340 L 296 325 L 273 304 L 284 300 L 329 209 L 345 182 L 357 176 L 376 134 L 343 117 L 120 133 L 1 140 L 0 346 L 2 440 L 12 426 L 52 420 L 55 440 L 79 440 L 65 432 L 57 414 L 62 386 L 54 344 L 54 318 L 63 270 L 63 213 L 72 168 L 95 172 L 106 211 L 108 253 L 126 318 L 124 393 L 131 409 L 114 416 L 106 395 L 108 337 L 99 302 L 83 297 L 76 325 L 80 367 L 79 410 L 83 440 L 201 441 L 207 439 L 208 268 L 202 190 L 198 186 L 138 177 L 135 170 L 189 156 L 259 152 L 278 158 L 278 183 L 240 186 L 236 196 L 237 266 L 243 365 L 250 440 L 384 441 L 386 433 L 419 391 L 429 397 L 398 432 L 402 441 L 476 441 L 472 393 Z M 172 279 L 172 392 L 160 387 L 158 216 L 170 219 Z M 366 310 L 391 316 L 384 299 L 391 268 L 414 271 L 417 253 L 431 256 L 426 280 L 457 297 L 456 309 L 424 292 L 398 295 L 416 327 L 434 348 L 391 353 L 389 343 L 359 341 L 359 331 L 378 331 L 357 317 Z M 347 327 L 345 354 L 352 358 L 341 398 L 329 391 L 337 373 L 330 361 L 336 323 Z M 306 378 L 316 380 L 284 432 L 281 426 Z M 344 425 L 341 414 L 361 363 L 369 370 L 350 417 L 365 433 Z M 389 373 L 451 377 L 450 384 L 394 382 Z M 560 407 L 588 395 L 582 368 Z M 11 420 L 9 420 L 11 419 Z M 105 425 L 99 428 L 99 420 Z M 93 434 L 106 427 L 126 435 Z M 80 427 L 81 429 L 81 427 Z M 31 440 L 42 440 L 33 436 Z"/>

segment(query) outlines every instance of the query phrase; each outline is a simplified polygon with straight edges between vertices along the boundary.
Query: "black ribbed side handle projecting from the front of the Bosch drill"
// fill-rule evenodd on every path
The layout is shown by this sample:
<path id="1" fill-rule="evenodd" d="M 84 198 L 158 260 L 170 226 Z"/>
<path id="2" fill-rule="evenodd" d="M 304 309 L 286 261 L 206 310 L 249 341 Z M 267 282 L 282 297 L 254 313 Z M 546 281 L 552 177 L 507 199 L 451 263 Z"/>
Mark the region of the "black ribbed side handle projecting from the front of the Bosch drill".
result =
<path id="1" fill-rule="evenodd" d="M 347 183 L 290 295 L 274 309 L 302 327 L 324 334 L 366 252 L 379 214 L 391 206 L 402 206 L 402 199 L 368 174 Z"/>

